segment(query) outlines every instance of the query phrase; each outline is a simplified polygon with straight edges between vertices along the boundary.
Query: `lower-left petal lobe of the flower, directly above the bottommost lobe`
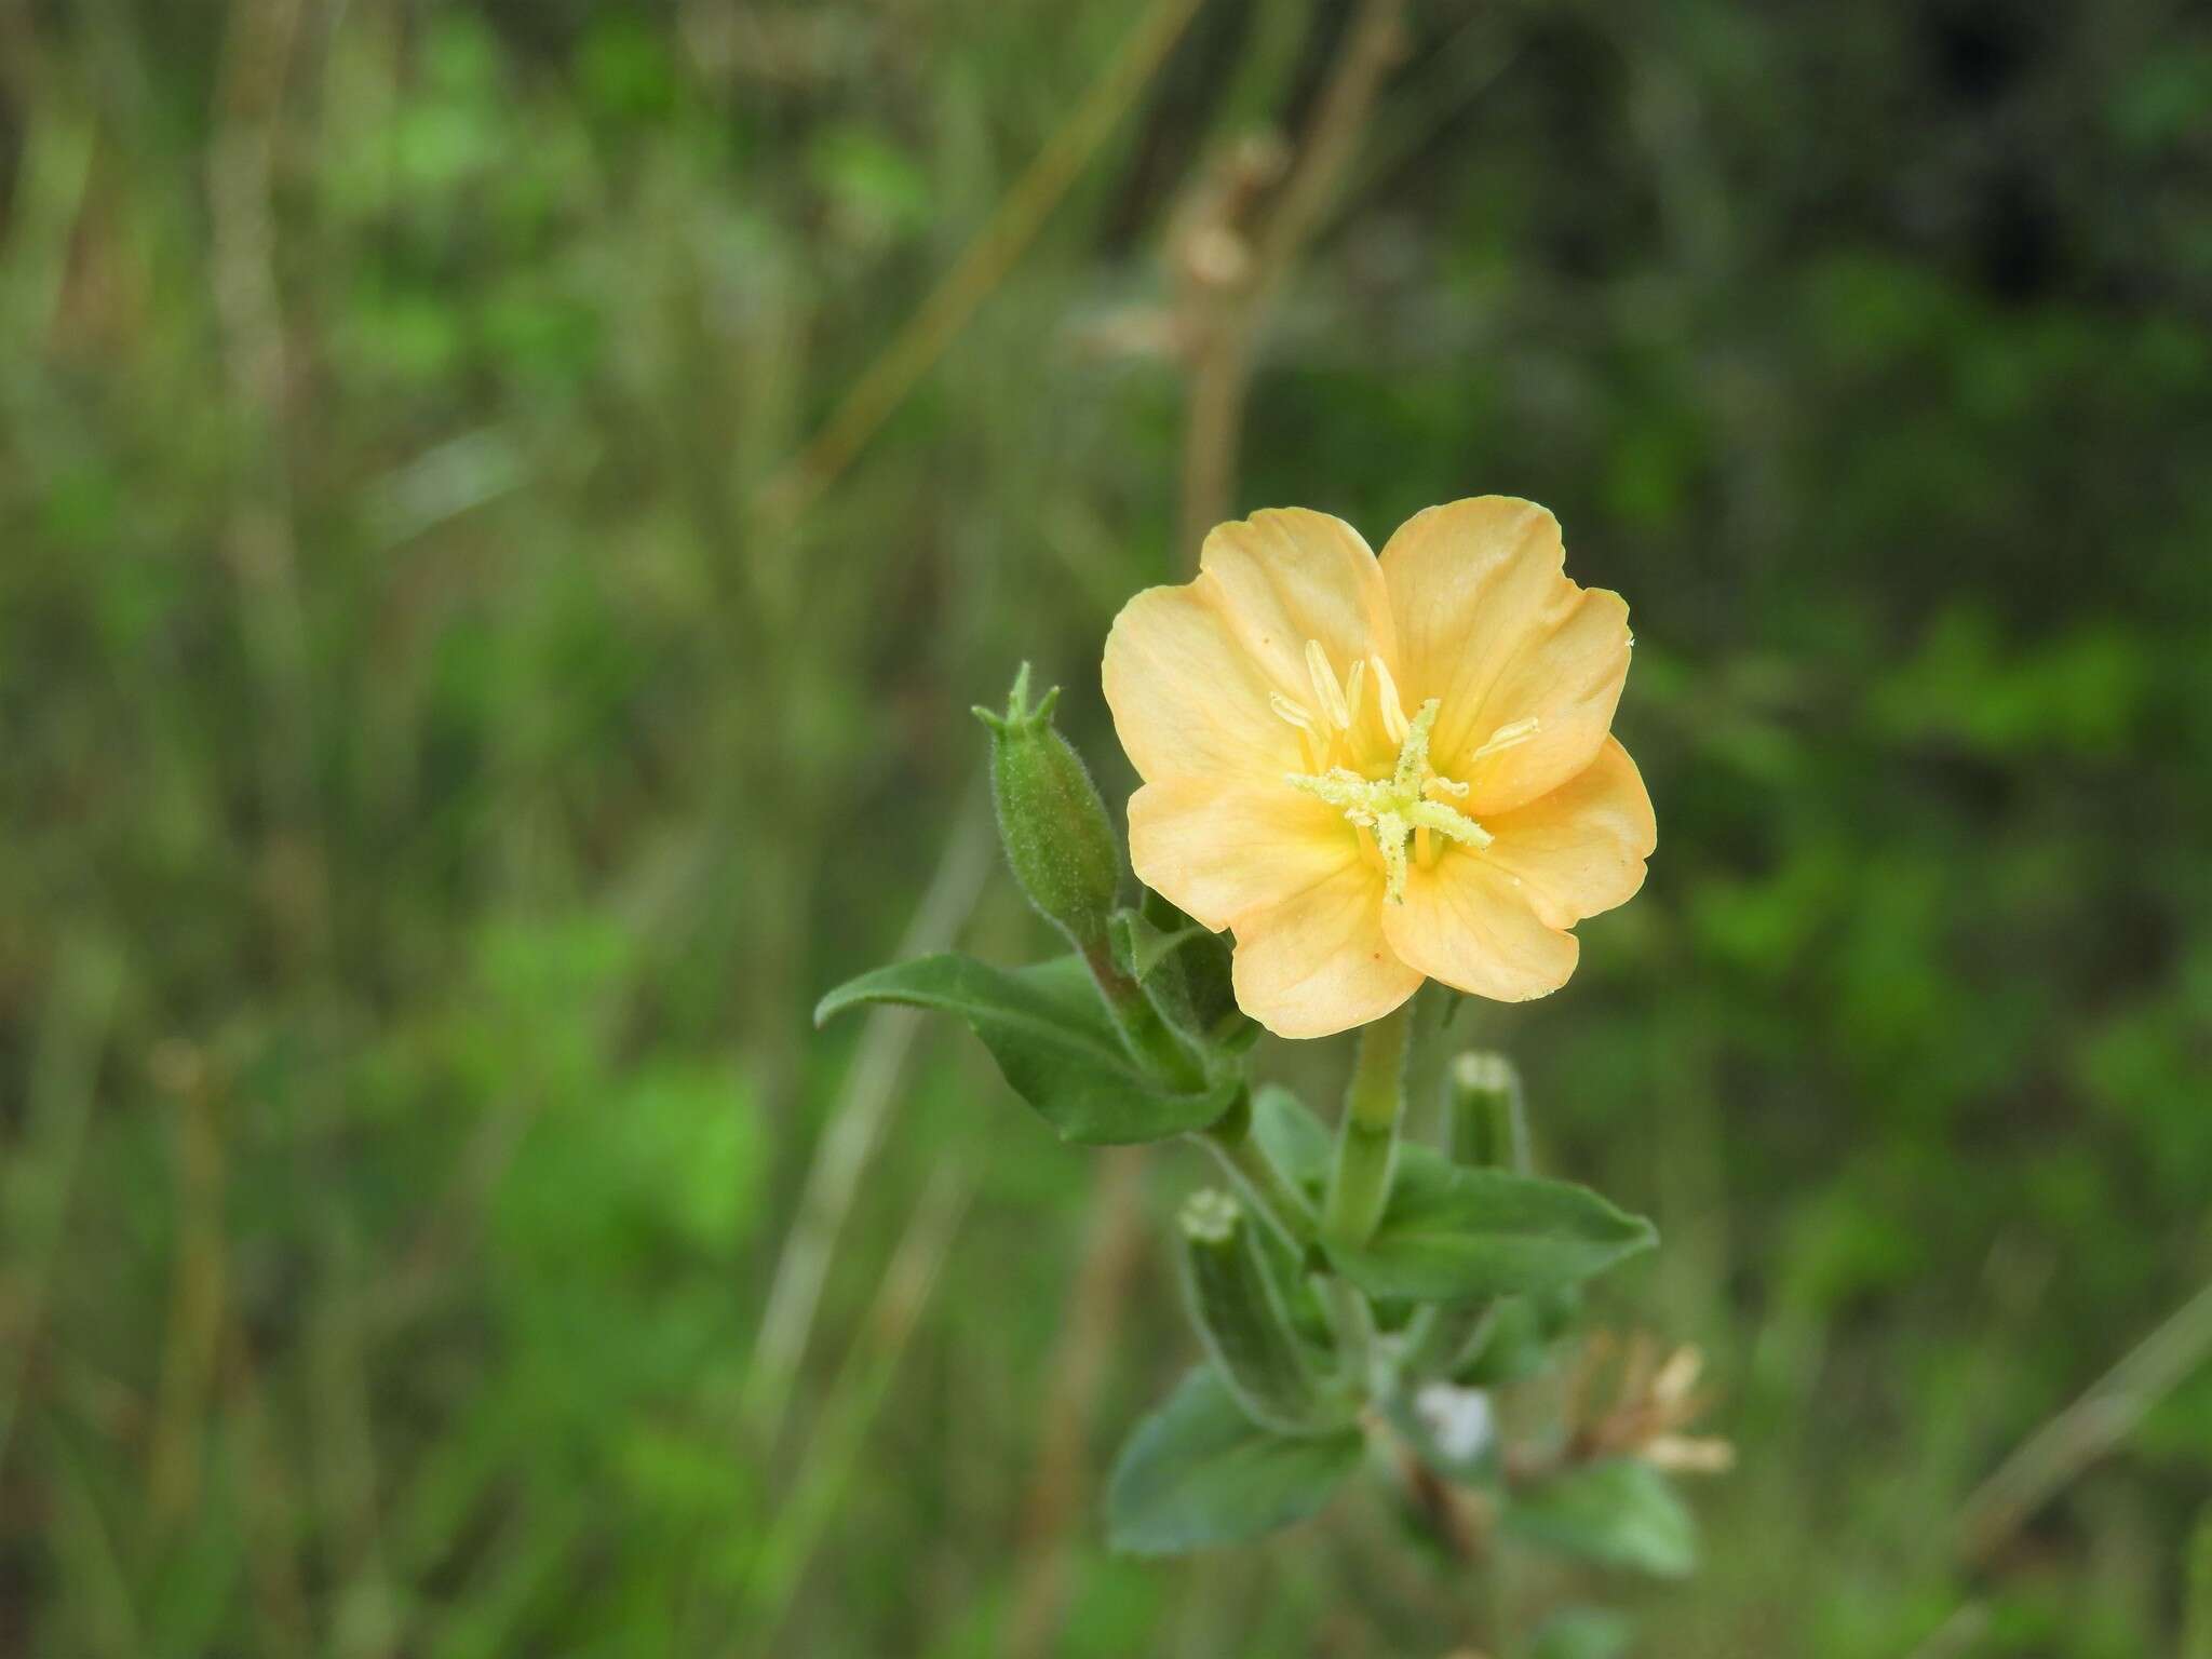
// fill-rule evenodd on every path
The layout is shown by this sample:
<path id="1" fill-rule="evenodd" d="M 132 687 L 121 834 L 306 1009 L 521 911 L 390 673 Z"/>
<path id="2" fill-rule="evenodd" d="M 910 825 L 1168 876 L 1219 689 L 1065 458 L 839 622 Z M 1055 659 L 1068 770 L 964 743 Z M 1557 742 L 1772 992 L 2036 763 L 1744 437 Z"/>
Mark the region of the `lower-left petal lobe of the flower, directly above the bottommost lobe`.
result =
<path id="1" fill-rule="evenodd" d="M 1164 779 L 1128 799 L 1128 860 L 1152 891 L 1221 931 L 1360 858 L 1345 814 L 1281 781 Z"/>

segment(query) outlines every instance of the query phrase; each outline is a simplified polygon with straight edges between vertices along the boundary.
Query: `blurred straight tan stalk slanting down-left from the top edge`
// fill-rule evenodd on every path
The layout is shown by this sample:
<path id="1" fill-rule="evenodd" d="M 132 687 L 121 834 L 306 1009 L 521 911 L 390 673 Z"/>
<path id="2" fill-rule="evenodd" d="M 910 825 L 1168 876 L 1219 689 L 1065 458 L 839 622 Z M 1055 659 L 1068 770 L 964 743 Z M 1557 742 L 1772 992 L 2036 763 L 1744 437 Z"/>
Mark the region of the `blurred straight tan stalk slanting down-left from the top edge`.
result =
<path id="1" fill-rule="evenodd" d="M 1106 135 L 1159 71 L 1203 0 L 1152 0 L 1121 51 L 1044 142 L 1029 170 L 998 204 L 991 221 L 922 301 L 920 310 L 854 380 L 807 447 L 761 491 L 768 524 L 787 526 L 852 465 L 854 456 L 929 374 L 945 347 L 967 327 L 975 307 L 1029 250 L 1037 230 L 1068 192 Z"/>

